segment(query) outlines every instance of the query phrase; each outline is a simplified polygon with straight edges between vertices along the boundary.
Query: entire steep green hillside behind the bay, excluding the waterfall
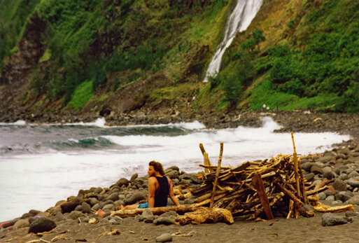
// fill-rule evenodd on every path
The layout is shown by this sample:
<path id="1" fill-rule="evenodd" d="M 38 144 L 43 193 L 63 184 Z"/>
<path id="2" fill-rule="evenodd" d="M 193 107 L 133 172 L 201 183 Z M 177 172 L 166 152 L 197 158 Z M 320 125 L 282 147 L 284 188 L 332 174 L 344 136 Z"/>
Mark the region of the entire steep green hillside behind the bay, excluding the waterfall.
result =
<path id="1" fill-rule="evenodd" d="M 265 0 L 203 83 L 235 3 L 2 0 L 0 95 L 38 113 L 359 111 L 359 1 Z"/>

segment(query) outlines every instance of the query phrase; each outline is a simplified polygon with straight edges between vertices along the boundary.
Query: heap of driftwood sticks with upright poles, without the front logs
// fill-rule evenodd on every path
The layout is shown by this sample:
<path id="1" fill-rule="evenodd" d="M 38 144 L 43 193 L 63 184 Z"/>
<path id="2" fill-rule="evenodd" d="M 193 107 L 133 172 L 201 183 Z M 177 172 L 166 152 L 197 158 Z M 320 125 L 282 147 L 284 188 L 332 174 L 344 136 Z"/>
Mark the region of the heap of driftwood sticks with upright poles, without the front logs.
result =
<path id="1" fill-rule="evenodd" d="M 293 134 L 292 134 L 293 138 Z M 311 204 L 317 211 L 353 211 L 352 205 L 328 207 L 318 202 L 317 193 L 327 190 L 328 183 L 323 181 L 315 187 L 307 183 L 302 174 L 300 161 L 297 160 L 293 139 L 293 155 L 277 155 L 270 160 L 244 162 L 235 168 L 220 167 L 223 144 L 220 146 L 218 166 L 211 166 L 209 157 L 202 144 L 205 168 L 197 178 L 204 183 L 192 188 L 197 196 L 197 207 L 208 206 L 229 210 L 233 216 L 246 216 L 249 220 L 274 218 L 273 212 L 288 212 L 287 218 L 314 216 L 304 204 Z"/>

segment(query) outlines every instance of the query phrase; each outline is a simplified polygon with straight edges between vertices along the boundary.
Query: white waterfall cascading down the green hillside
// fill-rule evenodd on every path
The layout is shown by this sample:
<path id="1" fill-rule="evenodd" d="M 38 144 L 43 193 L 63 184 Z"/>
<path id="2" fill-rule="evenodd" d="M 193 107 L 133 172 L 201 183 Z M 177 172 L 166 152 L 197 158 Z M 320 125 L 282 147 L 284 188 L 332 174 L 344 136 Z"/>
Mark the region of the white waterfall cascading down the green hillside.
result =
<path id="1" fill-rule="evenodd" d="M 230 18 L 227 20 L 225 26 L 225 35 L 223 41 L 218 45 L 216 53 L 214 54 L 209 67 L 206 71 L 206 77 L 204 82 L 208 81 L 211 76 L 216 76 L 220 69 L 220 63 L 222 62 L 223 54 L 225 50 L 232 43 L 234 36 L 238 32 L 243 32 L 251 24 L 253 18 L 260 10 L 262 6 L 262 0 L 238 0 Z"/>

